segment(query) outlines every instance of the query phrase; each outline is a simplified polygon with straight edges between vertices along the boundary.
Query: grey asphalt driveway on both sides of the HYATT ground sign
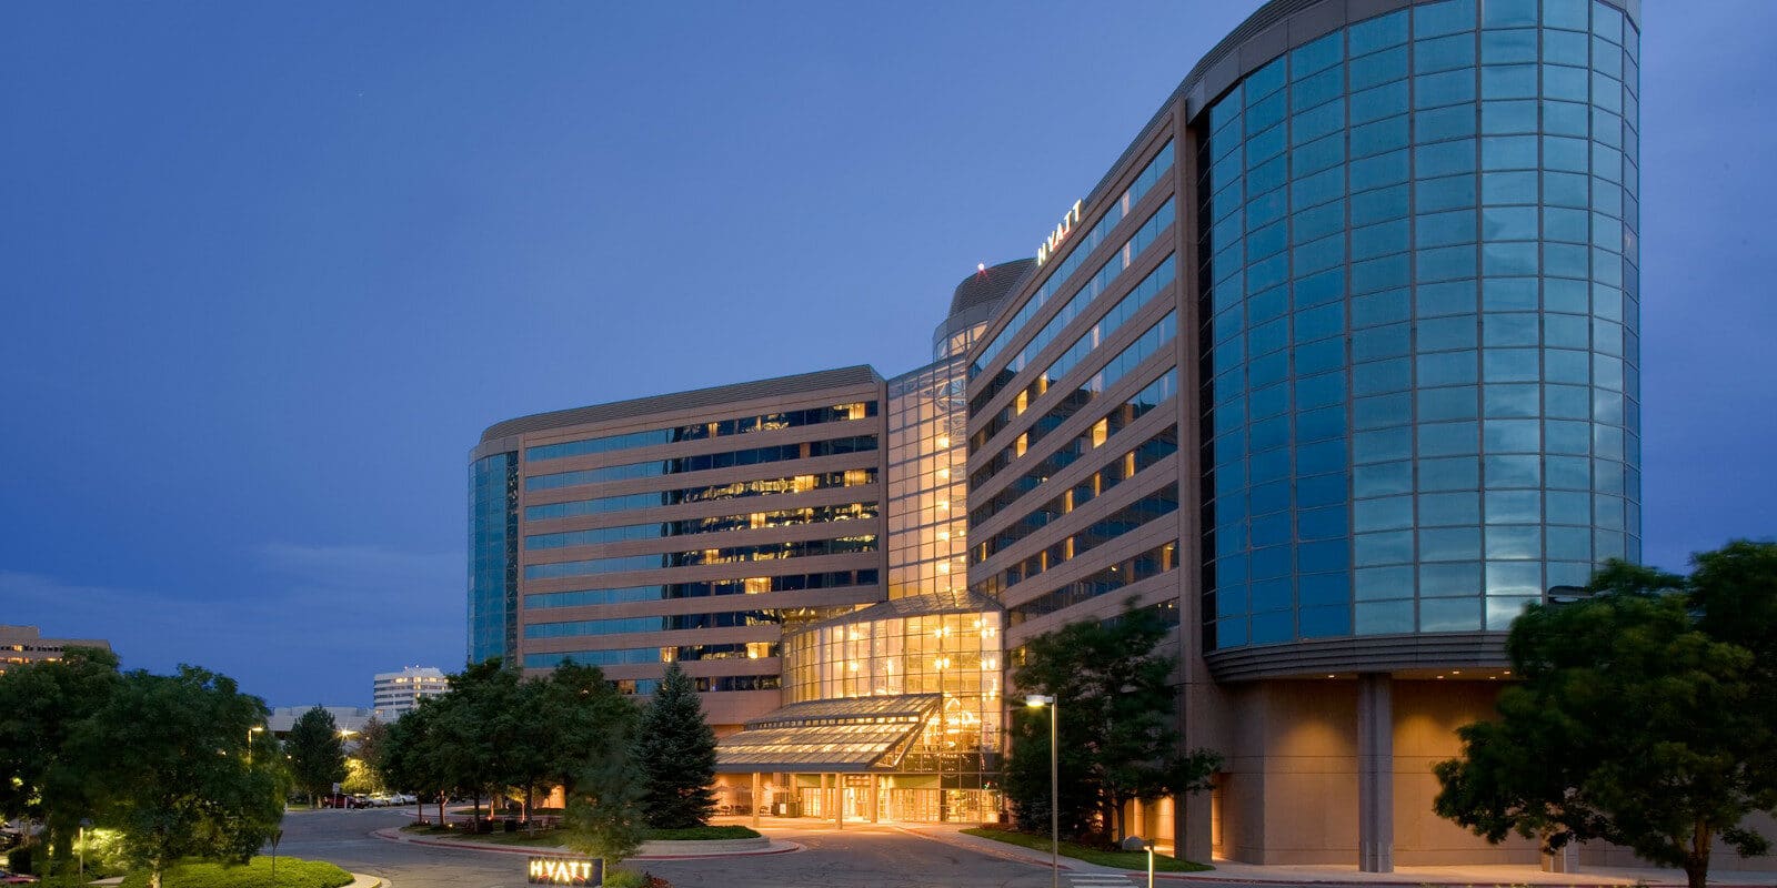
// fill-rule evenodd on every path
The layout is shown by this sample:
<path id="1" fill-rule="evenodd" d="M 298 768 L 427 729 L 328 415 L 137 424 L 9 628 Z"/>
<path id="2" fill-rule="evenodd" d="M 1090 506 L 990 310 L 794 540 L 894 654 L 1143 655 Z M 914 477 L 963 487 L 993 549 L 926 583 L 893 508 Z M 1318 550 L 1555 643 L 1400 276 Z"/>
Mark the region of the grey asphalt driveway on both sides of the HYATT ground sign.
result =
<path id="1" fill-rule="evenodd" d="M 519 888 L 521 854 L 487 854 L 387 842 L 373 829 L 409 822 L 410 810 L 290 812 L 279 854 L 327 860 L 382 877 L 389 888 Z M 844 833 L 773 829 L 803 851 L 702 860 L 638 860 L 673 888 L 1047 888 L 1048 868 L 979 854 L 888 828 Z M 1064 872 L 1061 884 L 1070 884 Z"/>

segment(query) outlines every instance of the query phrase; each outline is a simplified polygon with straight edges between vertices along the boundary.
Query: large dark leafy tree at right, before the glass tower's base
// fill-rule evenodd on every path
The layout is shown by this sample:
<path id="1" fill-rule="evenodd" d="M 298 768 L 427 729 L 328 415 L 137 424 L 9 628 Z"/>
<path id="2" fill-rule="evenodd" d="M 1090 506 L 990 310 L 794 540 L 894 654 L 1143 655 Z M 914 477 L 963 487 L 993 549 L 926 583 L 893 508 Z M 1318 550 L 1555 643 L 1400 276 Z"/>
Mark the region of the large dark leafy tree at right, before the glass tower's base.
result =
<path id="1" fill-rule="evenodd" d="M 1683 867 L 1704 888 L 1715 838 L 1763 854 L 1741 826 L 1777 810 L 1777 545 L 1736 542 L 1674 574 L 1610 561 L 1590 597 L 1512 623 L 1519 684 L 1496 721 L 1457 730 L 1436 767 L 1439 817 L 1544 851 L 1605 840 Z"/>

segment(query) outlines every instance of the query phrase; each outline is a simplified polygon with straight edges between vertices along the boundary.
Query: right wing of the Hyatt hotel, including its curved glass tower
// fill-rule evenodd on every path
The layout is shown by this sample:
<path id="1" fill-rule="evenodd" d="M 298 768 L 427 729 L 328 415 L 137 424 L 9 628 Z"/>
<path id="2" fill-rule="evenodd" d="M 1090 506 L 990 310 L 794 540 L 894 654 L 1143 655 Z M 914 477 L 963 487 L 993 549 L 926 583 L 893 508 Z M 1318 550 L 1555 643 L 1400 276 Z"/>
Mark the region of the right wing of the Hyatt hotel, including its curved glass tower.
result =
<path id="1" fill-rule="evenodd" d="M 1011 648 L 1176 607 L 1224 757 L 1183 854 L 1535 860 L 1436 819 L 1430 764 L 1510 620 L 1640 554 L 1637 18 L 1267 4 L 972 352 L 970 588 Z"/>

